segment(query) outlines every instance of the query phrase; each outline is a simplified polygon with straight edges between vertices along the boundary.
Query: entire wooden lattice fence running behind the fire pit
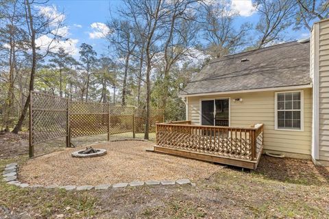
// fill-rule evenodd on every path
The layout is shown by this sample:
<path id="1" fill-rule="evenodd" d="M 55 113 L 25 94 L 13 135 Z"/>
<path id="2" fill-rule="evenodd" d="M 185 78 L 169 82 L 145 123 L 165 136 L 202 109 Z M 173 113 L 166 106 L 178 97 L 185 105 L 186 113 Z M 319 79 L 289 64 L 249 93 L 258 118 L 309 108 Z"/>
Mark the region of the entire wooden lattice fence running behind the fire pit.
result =
<path id="1" fill-rule="evenodd" d="M 152 110 L 149 132 L 156 131 L 156 123 L 164 122 L 162 110 Z M 71 137 L 132 132 L 144 133 L 145 110 L 135 107 L 110 106 L 106 103 L 72 102 L 58 96 L 39 92 L 31 93 L 30 104 L 30 157 L 34 144 L 66 136 L 66 146 Z"/>

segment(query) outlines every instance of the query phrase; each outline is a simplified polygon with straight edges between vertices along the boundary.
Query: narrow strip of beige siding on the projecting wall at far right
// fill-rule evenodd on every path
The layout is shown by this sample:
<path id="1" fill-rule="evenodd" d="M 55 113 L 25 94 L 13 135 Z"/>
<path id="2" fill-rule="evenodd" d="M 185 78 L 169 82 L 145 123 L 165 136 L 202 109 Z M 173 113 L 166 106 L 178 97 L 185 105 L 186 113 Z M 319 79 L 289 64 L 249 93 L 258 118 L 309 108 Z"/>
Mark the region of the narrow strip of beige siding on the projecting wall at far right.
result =
<path id="1" fill-rule="evenodd" d="M 319 48 L 316 48 L 319 49 L 319 159 L 329 161 L 329 20 L 317 25 L 319 25 Z"/>

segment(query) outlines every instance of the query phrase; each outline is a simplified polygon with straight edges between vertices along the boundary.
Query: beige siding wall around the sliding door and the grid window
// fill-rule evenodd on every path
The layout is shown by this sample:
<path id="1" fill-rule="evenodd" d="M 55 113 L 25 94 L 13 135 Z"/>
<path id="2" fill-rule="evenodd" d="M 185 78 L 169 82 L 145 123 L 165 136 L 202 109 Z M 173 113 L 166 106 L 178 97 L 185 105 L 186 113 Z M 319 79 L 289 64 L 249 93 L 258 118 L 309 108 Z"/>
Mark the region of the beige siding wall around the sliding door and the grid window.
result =
<path id="1" fill-rule="evenodd" d="M 304 131 L 275 130 L 275 92 L 273 91 L 226 94 L 223 96 L 190 96 L 188 97 L 188 120 L 192 120 L 193 124 L 199 125 L 200 99 L 208 98 L 230 98 L 231 127 L 249 127 L 256 123 L 264 123 L 265 149 L 310 155 L 312 140 L 311 88 L 304 89 Z M 234 103 L 233 100 L 237 98 L 242 98 L 243 101 Z"/>

